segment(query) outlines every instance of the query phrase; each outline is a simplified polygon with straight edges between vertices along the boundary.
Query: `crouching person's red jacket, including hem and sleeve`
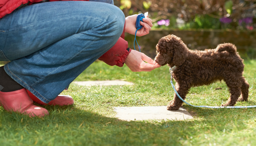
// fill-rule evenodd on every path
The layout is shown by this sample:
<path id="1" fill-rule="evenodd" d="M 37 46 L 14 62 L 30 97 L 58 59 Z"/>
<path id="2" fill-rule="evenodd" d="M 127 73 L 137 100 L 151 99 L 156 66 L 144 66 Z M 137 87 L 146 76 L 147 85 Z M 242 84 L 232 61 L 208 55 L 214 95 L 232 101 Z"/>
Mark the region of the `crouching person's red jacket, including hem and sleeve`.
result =
<path id="1" fill-rule="evenodd" d="M 30 1 L 30 4 L 38 3 L 42 0 L 0 0 L 0 20 L 5 15 L 10 14 L 16 8 L 22 4 L 27 4 Z M 68 1 L 68 0 L 49 0 L 49 1 Z M 89 1 L 89 0 L 69 0 L 69 1 Z M 125 28 L 125 26 L 124 26 Z M 102 60 L 108 65 L 117 65 L 122 67 L 124 61 L 127 58 L 128 54 L 131 52 L 131 49 L 128 48 L 128 42 L 124 40 L 124 31 L 121 37 L 118 39 L 116 44 L 105 54 L 99 57 L 99 60 Z"/>

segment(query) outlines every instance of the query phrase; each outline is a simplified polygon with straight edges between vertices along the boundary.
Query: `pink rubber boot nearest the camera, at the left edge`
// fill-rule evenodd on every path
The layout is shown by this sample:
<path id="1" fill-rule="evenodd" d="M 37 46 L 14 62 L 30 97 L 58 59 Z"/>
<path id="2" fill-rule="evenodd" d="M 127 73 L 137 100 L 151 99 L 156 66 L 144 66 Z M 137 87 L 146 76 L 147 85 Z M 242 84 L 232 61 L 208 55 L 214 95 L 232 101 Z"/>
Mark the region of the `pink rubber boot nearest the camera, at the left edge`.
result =
<path id="1" fill-rule="evenodd" d="M 33 101 L 30 99 L 25 88 L 12 92 L 0 91 L 0 105 L 6 111 L 14 111 L 29 115 L 30 117 L 49 115 L 45 108 L 33 105 Z"/>

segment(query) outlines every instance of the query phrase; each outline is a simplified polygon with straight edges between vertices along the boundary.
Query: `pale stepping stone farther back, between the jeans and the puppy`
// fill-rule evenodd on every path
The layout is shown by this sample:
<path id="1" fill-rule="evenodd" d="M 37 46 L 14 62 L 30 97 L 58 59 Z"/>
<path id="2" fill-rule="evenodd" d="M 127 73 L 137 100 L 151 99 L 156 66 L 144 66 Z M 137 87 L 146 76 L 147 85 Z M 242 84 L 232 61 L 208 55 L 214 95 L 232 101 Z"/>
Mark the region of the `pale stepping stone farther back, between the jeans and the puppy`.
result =
<path id="1" fill-rule="evenodd" d="M 75 84 L 82 86 L 111 86 L 111 85 L 133 85 L 132 82 L 112 80 L 112 81 L 73 81 Z"/>

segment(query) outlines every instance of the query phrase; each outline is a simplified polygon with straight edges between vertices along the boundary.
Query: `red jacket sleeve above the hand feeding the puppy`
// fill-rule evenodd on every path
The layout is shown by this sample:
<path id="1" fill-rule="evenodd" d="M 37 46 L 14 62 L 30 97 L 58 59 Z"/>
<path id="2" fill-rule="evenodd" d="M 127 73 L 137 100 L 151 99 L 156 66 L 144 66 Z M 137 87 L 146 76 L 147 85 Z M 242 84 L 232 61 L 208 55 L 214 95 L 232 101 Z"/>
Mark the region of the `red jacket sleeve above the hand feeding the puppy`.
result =
<path id="1" fill-rule="evenodd" d="M 125 28 L 125 26 L 124 26 Z M 116 44 L 108 50 L 105 54 L 99 57 L 99 60 L 105 62 L 108 65 L 117 65 L 122 67 L 124 65 L 125 59 L 131 52 L 128 48 L 128 42 L 124 40 L 124 30 L 121 37 L 118 39 Z"/>

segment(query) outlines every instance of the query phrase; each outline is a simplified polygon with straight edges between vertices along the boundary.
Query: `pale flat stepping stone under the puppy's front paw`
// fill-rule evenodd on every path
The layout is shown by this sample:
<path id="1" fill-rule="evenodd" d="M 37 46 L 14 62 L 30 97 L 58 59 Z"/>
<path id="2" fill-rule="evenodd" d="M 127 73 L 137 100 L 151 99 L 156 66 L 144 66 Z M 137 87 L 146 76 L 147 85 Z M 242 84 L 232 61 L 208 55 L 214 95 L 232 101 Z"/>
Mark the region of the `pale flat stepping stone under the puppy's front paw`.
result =
<path id="1" fill-rule="evenodd" d="M 185 120 L 193 117 L 184 108 L 177 111 L 166 110 L 167 106 L 157 107 L 115 107 L 116 118 L 120 120 Z"/>

